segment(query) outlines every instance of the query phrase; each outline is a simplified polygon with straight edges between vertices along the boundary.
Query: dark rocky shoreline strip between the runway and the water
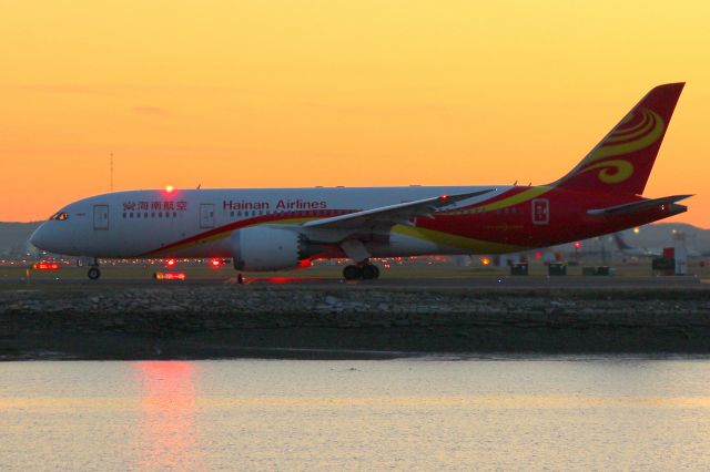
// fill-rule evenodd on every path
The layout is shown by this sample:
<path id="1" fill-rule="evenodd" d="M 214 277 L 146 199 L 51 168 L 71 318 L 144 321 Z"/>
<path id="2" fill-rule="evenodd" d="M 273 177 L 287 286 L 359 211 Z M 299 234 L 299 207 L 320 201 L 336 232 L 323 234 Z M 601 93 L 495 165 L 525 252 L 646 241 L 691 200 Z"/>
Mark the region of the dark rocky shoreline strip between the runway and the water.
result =
<path id="1" fill-rule="evenodd" d="M 0 360 L 710 353 L 710 291 L 113 287 L 0 291 Z"/>

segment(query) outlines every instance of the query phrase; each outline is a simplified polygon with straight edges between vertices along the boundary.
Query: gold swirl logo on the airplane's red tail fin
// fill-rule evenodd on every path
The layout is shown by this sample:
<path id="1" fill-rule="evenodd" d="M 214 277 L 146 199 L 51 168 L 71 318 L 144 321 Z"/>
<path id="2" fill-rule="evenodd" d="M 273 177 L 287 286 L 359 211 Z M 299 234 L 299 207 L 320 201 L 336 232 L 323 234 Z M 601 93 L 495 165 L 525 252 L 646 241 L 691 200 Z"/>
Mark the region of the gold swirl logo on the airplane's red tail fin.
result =
<path id="1" fill-rule="evenodd" d="M 586 160 L 582 168 L 577 173 L 600 170 L 599 179 L 607 184 L 618 184 L 633 174 L 633 164 L 617 157 L 643 150 L 656 143 L 666 129 L 663 119 L 649 109 L 638 110 L 639 115 L 630 114 L 607 136 L 601 146 L 597 147 Z M 602 161 L 604 160 L 604 161 Z M 600 162 L 599 162 L 600 161 Z"/>

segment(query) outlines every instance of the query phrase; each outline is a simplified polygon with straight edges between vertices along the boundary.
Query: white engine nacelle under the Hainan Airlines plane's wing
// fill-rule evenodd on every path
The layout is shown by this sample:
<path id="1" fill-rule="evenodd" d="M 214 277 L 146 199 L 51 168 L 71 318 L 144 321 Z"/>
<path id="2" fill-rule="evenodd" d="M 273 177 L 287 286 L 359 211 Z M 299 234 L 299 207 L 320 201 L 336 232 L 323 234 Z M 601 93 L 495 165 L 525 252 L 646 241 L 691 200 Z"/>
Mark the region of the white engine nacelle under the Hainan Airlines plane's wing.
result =
<path id="1" fill-rule="evenodd" d="M 237 270 L 283 270 L 307 258 L 305 237 L 273 226 L 252 226 L 232 233 L 232 256 Z"/>

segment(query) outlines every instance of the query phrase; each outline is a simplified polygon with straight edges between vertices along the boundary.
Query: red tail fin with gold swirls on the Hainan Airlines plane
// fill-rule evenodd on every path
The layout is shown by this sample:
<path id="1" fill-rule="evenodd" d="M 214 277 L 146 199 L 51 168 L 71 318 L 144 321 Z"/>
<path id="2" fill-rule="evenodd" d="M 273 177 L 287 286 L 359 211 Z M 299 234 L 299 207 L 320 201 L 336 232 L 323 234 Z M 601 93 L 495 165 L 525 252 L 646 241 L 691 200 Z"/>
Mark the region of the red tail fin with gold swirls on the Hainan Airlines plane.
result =
<path id="1" fill-rule="evenodd" d="M 557 186 L 643 193 L 684 83 L 651 90 Z"/>

